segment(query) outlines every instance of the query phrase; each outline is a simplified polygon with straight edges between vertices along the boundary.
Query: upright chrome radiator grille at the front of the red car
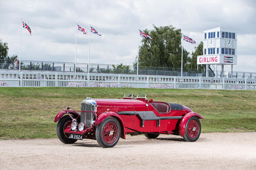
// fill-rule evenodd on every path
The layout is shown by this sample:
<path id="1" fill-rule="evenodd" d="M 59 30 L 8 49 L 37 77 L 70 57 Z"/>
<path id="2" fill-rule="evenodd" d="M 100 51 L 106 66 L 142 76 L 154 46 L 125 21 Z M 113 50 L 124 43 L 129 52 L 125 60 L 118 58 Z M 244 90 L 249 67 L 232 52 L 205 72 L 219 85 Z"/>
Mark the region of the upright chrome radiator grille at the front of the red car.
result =
<path id="1" fill-rule="evenodd" d="M 82 104 L 81 110 L 81 122 L 84 123 L 86 128 L 91 127 L 94 113 L 86 111 L 93 111 L 93 106 L 91 104 Z"/>

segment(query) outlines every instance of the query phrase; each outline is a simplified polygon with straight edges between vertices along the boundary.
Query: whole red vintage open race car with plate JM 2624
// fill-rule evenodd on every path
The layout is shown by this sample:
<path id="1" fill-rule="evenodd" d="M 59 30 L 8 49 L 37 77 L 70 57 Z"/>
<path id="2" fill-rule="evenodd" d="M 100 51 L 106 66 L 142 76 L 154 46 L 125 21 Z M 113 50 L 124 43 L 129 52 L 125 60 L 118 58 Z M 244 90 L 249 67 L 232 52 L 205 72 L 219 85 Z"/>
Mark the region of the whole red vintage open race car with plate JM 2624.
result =
<path id="1" fill-rule="evenodd" d="M 172 134 L 194 142 L 201 132 L 199 119 L 204 118 L 186 106 L 129 94 L 124 99 L 86 98 L 80 111 L 67 107 L 56 115 L 54 122 L 58 121 L 57 135 L 63 143 L 96 139 L 107 148 L 114 147 L 127 134 L 144 134 L 149 139 Z"/>

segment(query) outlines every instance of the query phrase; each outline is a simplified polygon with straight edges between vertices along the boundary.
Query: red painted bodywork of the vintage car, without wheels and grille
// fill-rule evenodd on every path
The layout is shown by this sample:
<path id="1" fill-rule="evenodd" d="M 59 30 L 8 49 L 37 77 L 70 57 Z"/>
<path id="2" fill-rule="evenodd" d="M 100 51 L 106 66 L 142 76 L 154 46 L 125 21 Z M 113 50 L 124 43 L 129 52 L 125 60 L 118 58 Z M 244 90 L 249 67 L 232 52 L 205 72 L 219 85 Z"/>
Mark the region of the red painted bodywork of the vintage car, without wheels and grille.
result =
<path id="1" fill-rule="evenodd" d="M 72 131 L 70 126 L 64 130 L 65 133 L 82 134 L 83 138 L 95 139 L 95 129 L 106 117 L 116 118 L 121 126 L 121 138 L 125 139 L 126 134 L 135 133 L 162 133 L 184 136 L 185 126 L 188 119 L 196 116 L 199 119 L 204 119 L 198 113 L 192 112 L 188 107 L 169 104 L 166 102 L 153 102 L 148 100 L 134 99 L 92 99 L 97 103 L 97 117 L 92 127 L 83 131 Z M 166 109 L 164 112 L 159 112 L 158 109 Z M 168 109 L 169 107 L 169 109 Z M 175 107 L 175 108 L 172 108 Z M 182 109 L 181 109 L 182 108 Z M 142 113 L 142 111 L 146 111 Z M 150 112 L 151 111 L 151 112 Z M 58 121 L 64 114 L 69 113 L 71 117 L 80 119 L 79 111 L 62 110 L 60 111 L 54 122 Z M 155 114 L 155 120 L 142 119 L 142 114 Z M 141 115 L 139 115 L 139 113 Z M 161 120 L 158 120 L 158 117 Z M 168 118 L 168 119 L 165 119 Z M 175 119 L 176 118 L 176 119 Z M 150 119 L 150 118 L 148 118 Z"/>

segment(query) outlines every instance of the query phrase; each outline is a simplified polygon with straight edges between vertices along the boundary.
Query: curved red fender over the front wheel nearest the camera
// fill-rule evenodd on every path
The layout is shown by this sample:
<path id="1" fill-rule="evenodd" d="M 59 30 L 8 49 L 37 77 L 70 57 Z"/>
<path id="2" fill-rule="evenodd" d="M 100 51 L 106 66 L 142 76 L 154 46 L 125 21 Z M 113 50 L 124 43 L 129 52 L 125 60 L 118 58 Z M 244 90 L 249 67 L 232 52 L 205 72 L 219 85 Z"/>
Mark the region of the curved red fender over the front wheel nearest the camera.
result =
<path id="1" fill-rule="evenodd" d="M 116 120 L 118 120 L 121 127 L 121 138 L 125 139 L 124 122 L 120 115 L 118 115 L 117 113 L 114 113 L 112 111 L 106 111 L 104 113 L 101 113 L 95 120 L 94 125 L 99 125 L 106 117 L 114 117 Z"/>

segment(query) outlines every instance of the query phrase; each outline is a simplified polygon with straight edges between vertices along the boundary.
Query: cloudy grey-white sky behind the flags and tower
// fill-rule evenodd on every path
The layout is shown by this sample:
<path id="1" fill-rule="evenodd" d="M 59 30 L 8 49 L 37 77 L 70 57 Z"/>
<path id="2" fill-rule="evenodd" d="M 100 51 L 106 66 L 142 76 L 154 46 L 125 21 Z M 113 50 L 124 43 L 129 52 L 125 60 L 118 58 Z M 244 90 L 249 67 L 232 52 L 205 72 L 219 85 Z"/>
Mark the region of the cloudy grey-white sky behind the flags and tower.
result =
<path id="1" fill-rule="evenodd" d="M 0 39 L 8 43 L 10 56 L 19 55 L 20 17 L 30 26 L 32 36 L 22 29 L 21 59 L 32 61 L 74 62 L 76 22 L 102 34 L 91 35 L 90 63 L 125 65 L 137 55 L 138 27 L 173 25 L 196 42 L 204 30 L 233 28 L 238 34 L 234 71 L 256 72 L 254 0 L 0 0 L 0 17 Z M 88 61 L 88 41 L 89 34 L 77 33 L 78 63 Z M 194 47 L 184 42 L 187 51 Z"/>

